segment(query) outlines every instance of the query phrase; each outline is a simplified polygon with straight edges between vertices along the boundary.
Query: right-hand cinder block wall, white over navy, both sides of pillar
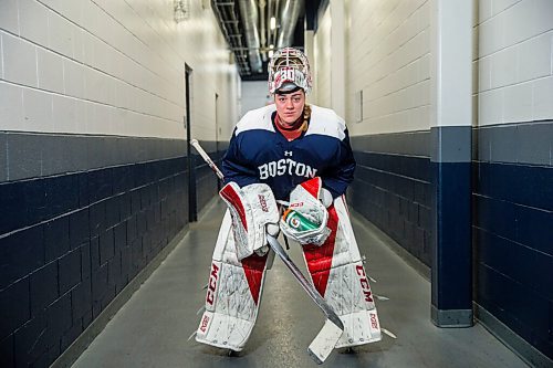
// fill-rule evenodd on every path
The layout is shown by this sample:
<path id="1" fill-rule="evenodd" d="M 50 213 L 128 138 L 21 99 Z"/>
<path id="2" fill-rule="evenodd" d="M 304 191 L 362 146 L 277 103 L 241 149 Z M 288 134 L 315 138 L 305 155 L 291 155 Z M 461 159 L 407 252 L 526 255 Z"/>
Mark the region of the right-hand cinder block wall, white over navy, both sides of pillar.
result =
<path id="1" fill-rule="evenodd" d="M 345 118 L 357 160 L 348 201 L 427 266 L 432 1 L 345 4 Z M 312 51 L 315 102 L 328 106 L 333 88 L 321 86 L 333 70 L 317 48 L 331 43 L 331 8 L 319 13 Z M 536 362 L 532 349 L 553 358 L 553 2 L 474 0 L 473 9 L 474 312 Z"/>

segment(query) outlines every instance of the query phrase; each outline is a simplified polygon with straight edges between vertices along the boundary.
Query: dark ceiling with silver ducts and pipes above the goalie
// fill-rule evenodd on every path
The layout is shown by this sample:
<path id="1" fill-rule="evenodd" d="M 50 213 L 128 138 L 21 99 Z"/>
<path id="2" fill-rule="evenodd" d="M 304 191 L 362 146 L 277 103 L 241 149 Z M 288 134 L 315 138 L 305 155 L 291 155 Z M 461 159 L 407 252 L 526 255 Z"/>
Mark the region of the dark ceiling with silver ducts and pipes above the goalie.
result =
<path id="1" fill-rule="evenodd" d="M 267 81 L 271 50 L 303 49 L 305 0 L 211 0 L 211 8 L 242 81 Z"/>

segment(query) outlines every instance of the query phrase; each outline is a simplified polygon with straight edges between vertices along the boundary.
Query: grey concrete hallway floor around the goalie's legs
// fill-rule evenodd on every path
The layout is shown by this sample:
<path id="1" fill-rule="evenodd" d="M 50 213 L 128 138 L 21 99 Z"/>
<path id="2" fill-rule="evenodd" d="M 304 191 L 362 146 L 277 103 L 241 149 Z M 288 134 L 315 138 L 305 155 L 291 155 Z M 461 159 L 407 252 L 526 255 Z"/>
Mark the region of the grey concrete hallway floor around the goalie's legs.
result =
<path id="1" fill-rule="evenodd" d="M 258 323 L 237 356 L 187 341 L 204 304 L 211 252 L 225 207 L 213 202 L 198 223 L 108 323 L 73 367 L 316 367 L 306 348 L 322 313 L 278 259 L 268 272 Z M 526 367 L 482 326 L 440 329 L 429 319 L 430 284 L 358 218 L 354 230 L 367 272 L 377 280 L 380 324 L 397 339 L 335 351 L 325 367 Z M 365 225 L 363 225 L 365 224 Z M 298 249 L 291 257 L 304 270 Z"/>

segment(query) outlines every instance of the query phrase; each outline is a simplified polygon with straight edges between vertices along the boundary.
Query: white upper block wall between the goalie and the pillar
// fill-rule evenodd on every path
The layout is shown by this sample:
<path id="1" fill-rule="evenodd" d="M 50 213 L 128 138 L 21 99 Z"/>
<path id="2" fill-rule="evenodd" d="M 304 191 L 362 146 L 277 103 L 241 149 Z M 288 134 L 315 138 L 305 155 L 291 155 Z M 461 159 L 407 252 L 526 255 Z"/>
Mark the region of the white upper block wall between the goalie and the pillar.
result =
<path id="1" fill-rule="evenodd" d="M 429 129 L 429 1 L 351 1 L 348 14 L 352 136 Z M 353 124 L 359 91 L 363 119 Z"/>

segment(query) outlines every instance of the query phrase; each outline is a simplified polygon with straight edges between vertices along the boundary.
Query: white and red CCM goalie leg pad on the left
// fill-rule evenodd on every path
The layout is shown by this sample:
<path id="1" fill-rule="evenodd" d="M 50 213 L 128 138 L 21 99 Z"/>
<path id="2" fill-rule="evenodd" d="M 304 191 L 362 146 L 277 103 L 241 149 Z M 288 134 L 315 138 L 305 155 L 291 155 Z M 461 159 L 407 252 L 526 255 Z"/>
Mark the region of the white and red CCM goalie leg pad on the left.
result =
<path id="1" fill-rule="evenodd" d="M 227 211 L 213 251 L 206 311 L 196 340 L 240 351 L 255 324 L 268 255 L 252 254 L 239 261 L 231 222 Z"/>

